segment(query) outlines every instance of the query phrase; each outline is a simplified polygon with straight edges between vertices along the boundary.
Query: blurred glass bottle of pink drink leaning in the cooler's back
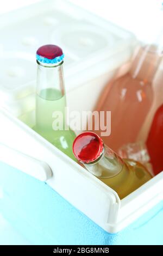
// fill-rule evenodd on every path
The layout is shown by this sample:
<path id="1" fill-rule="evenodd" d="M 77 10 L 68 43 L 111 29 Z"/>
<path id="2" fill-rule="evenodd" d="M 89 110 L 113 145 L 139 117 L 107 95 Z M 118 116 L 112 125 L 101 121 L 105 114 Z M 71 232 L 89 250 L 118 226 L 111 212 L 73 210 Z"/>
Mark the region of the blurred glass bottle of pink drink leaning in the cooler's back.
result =
<path id="1" fill-rule="evenodd" d="M 111 135 L 102 139 L 116 152 L 122 145 L 136 141 L 151 108 L 152 82 L 161 51 L 157 42 L 140 47 L 130 71 L 108 84 L 98 101 L 97 111 L 111 111 Z M 101 135 L 101 130 L 95 132 Z"/>

